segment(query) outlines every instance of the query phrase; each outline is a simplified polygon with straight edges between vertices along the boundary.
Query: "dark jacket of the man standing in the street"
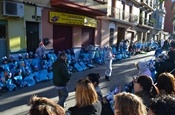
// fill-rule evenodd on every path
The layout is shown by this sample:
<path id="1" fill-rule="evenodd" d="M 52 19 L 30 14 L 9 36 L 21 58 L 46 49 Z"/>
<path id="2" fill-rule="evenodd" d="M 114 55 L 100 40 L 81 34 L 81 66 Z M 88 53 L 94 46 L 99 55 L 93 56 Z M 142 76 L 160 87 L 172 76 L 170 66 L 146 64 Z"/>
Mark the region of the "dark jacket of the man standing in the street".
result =
<path id="1" fill-rule="evenodd" d="M 58 58 L 52 65 L 53 84 L 55 86 L 66 86 L 71 74 L 68 72 L 65 60 Z"/>

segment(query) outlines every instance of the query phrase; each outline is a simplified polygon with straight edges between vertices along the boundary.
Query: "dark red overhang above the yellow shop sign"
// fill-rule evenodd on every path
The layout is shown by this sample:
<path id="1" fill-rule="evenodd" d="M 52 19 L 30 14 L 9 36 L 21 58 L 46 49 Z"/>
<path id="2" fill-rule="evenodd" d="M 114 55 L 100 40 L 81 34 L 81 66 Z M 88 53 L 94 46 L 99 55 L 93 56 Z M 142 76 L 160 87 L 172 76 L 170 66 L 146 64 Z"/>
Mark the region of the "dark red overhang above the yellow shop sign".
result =
<path id="1" fill-rule="evenodd" d="M 84 13 L 84 14 L 92 15 L 92 16 L 106 16 L 106 13 L 107 13 L 107 12 L 103 12 L 103 11 L 96 10 L 93 8 L 89 8 L 84 5 L 76 4 L 68 0 L 51 0 L 50 5 L 52 7 L 72 9 L 74 11 L 78 11 L 80 13 Z"/>

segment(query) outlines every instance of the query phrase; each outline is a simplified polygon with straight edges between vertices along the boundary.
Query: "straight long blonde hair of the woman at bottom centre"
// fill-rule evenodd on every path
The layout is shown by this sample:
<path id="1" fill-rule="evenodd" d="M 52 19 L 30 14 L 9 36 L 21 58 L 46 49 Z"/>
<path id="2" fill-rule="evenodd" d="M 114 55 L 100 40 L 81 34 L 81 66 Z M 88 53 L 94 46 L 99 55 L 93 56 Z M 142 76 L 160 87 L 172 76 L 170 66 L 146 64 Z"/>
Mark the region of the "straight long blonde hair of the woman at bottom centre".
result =
<path id="1" fill-rule="evenodd" d="M 98 101 L 98 95 L 90 80 L 80 79 L 77 82 L 75 99 L 78 107 L 88 106 Z"/>

